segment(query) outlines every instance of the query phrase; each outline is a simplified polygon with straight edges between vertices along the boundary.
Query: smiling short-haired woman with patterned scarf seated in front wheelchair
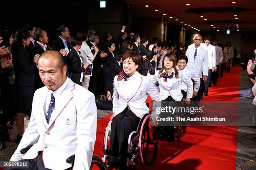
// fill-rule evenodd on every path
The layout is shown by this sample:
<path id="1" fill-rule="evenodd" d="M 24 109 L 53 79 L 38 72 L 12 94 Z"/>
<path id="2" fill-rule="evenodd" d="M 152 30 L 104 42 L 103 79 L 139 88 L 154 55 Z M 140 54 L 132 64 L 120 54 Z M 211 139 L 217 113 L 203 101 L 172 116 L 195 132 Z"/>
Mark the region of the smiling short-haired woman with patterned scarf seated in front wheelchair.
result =
<path id="1" fill-rule="evenodd" d="M 136 71 L 141 64 L 141 56 L 129 51 L 125 52 L 122 60 L 124 72 L 114 78 L 114 117 L 107 126 L 111 126 L 109 168 L 125 165 L 129 134 L 136 130 L 141 117 L 149 112 L 147 94 L 152 100 L 160 101 L 159 92 L 150 77 Z M 155 118 L 152 119 L 154 124 Z"/>

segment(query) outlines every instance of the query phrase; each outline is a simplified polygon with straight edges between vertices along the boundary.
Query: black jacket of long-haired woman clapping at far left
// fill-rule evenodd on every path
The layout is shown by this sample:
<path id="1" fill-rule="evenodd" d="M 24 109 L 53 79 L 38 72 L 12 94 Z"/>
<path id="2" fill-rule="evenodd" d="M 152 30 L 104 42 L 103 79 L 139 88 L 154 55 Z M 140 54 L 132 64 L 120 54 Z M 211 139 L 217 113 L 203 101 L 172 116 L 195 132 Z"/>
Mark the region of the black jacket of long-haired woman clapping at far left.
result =
<path id="1" fill-rule="evenodd" d="M 15 73 L 15 85 L 23 87 L 34 86 L 36 63 L 31 62 L 28 52 L 20 48 L 13 53 L 13 68 Z"/>

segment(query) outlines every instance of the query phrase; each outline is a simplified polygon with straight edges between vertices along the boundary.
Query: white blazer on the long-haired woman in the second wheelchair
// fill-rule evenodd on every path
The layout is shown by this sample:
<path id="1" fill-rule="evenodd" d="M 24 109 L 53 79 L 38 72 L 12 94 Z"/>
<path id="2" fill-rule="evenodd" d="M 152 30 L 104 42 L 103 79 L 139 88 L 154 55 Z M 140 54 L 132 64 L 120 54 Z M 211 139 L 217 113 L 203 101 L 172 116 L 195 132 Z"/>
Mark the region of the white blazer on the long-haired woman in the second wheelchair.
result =
<path id="1" fill-rule="evenodd" d="M 175 78 L 175 72 L 174 72 L 174 69 L 172 69 L 172 72 L 174 73 L 173 78 L 172 79 L 167 78 L 167 82 L 164 82 L 163 77 L 159 78 L 159 72 L 160 72 L 160 70 L 156 71 L 154 77 L 152 78 L 152 83 L 154 85 L 156 84 L 156 82 L 159 83 L 161 100 L 165 100 L 168 96 L 172 96 L 172 98 L 175 101 L 181 101 L 182 97 L 183 97 L 182 92 L 181 92 L 182 81 L 185 82 L 188 87 L 187 97 L 192 98 L 193 82 L 191 79 L 189 79 L 189 77 L 187 77 L 184 74 L 184 72 L 179 71 L 179 77 Z M 163 70 L 163 72 L 166 72 L 166 71 Z"/>

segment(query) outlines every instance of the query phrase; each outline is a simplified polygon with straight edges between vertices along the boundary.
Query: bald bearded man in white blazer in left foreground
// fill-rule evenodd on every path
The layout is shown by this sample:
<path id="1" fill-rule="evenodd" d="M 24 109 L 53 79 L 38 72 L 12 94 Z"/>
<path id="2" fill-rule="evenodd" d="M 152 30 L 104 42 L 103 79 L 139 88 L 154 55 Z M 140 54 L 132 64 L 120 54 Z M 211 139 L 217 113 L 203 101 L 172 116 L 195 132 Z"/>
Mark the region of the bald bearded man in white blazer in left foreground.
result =
<path id="1" fill-rule="evenodd" d="M 28 128 L 10 161 L 28 161 L 31 170 L 69 170 L 72 164 L 66 160 L 75 155 L 73 170 L 89 170 L 96 140 L 95 97 L 66 76 L 61 53 L 42 53 L 38 67 L 46 86 L 34 94 Z"/>

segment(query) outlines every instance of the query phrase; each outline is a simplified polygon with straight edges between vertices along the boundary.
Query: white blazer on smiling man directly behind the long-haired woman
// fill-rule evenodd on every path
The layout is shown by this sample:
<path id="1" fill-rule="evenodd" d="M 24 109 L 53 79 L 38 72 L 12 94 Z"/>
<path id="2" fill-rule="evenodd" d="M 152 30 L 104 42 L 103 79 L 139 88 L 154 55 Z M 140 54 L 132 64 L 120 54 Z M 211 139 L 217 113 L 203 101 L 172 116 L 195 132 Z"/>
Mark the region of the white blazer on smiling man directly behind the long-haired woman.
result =
<path id="1" fill-rule="evenodd" d="M 177 67 L 177 70 L 179 70 L 179 66 L 176 66 L 176 67 Z M 198 76 L 198 74 L 195 71 L 195 69 L 189 68 L 189 67 L 186 66 L 183 70 L 179 70 L 179 71 L 183 71 L 184 75 L 186 75 L 190 79 L 194 80 L 195 85 L 194 85 L 194 90 L 193 91 L 198 92 L 199 87 L 200 87 L 200 77 Z M 187 85 L 183 81 L 182 81 L 182 87 L 181 88 L 182 88 L 182 90 L 187 92 Z"/>

